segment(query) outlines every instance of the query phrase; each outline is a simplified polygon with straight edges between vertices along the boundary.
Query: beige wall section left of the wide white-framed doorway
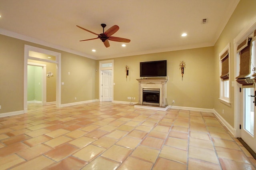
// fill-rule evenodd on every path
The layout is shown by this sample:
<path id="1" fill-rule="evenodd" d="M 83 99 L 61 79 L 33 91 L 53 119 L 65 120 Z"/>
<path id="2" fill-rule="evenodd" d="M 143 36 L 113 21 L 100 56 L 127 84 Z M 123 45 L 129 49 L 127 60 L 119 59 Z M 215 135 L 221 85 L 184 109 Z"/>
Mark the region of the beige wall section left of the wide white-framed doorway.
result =
<path id="1" fill-rule="evenodd" d="M 0 113 L 23 110 L 24 42 L 0 35 Z"/>

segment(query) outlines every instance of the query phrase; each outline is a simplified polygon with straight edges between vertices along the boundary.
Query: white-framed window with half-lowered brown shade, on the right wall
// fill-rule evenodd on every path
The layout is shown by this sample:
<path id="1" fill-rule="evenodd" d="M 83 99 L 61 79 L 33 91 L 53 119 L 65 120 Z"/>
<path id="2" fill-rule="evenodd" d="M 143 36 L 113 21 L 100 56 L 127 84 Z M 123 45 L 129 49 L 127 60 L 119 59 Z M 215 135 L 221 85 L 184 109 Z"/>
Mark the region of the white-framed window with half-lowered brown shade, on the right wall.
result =
<path id="1" fill-rule="evenodd" d="M 220 57 L 220 101 L 226 105 L 230 105 L 230 44 L 228 44 Z"/>

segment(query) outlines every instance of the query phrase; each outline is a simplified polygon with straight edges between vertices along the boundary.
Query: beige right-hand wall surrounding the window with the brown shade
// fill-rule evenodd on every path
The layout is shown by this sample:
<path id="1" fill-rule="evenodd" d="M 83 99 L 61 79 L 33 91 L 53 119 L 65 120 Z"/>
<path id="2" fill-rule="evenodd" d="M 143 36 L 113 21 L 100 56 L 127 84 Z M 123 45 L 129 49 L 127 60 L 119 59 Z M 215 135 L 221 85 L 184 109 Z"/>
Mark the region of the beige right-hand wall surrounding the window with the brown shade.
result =
<path id="1" fill-rule="evenodd" d="M 236 10 L 232 14 L 218 41 L 214 45 L 214 109 L 234 127 L 234 87 L 231 87 L 231 107 L 219 101 L 219 53 L 230 43 L 231 45 L 231 81 L 235 81 L 234 75 L 234 38 L 247 26 L 256 16 L 255 0 L 240 0 Z M 236 83 L 236 82 L 235 82 Z M 224 114 L 222 114 L 224 110 Z"/>

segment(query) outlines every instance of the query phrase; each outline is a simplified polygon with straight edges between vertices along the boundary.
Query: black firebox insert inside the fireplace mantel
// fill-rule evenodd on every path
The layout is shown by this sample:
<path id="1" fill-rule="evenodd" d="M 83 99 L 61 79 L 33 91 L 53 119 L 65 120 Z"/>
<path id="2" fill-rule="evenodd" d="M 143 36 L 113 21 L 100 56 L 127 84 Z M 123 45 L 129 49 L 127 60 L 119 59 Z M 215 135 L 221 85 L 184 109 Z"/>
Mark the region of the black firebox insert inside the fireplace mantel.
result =
<path id="1" fill-rule="evenodd" d="M 156 105 L 160 102 L 160 89 L 143 88 L 142 105 Z"/>

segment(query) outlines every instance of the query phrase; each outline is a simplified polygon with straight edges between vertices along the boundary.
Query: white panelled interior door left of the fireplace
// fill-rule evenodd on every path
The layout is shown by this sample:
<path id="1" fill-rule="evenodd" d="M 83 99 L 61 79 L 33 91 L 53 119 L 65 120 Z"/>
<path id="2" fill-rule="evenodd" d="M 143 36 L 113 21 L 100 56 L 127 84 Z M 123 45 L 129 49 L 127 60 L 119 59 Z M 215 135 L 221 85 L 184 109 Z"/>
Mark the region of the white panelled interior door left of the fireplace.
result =
<path id="1" fill-rule="evenodd" d="M 112 101 L 112 70 L 102 70 L 102 101 Z"/>

